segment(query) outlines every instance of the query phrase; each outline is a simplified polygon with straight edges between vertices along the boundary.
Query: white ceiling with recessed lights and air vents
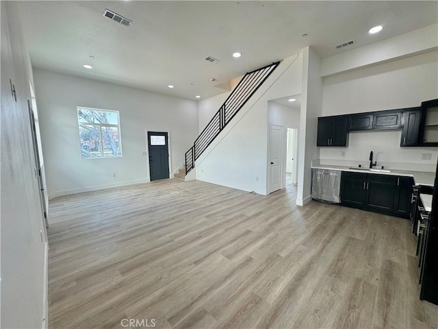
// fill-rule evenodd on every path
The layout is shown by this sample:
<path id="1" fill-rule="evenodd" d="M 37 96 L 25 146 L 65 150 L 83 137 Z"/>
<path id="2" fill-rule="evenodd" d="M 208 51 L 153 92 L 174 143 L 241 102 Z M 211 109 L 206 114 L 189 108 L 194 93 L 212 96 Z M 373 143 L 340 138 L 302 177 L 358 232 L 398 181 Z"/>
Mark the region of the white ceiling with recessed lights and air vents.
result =
<path id="1" fill-rule="evenodd" d="M 19 6 L 34 66 L 188 99 L 224 93 L 215 86 L 308 45 L 326 58 L 438 21 L 437 1 L 19 1 Z M 102 16 L 105 8 L 132 25 Z M 383 31 L 368 34 L 375 25 Z M 355 45 L 335 48 L 352 39 Z M 233 58 L 235 51 L 242 57 Z M 206 56 L 221 62 L 212 64 Z"/>

